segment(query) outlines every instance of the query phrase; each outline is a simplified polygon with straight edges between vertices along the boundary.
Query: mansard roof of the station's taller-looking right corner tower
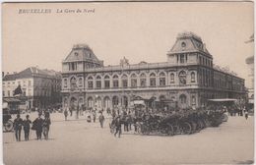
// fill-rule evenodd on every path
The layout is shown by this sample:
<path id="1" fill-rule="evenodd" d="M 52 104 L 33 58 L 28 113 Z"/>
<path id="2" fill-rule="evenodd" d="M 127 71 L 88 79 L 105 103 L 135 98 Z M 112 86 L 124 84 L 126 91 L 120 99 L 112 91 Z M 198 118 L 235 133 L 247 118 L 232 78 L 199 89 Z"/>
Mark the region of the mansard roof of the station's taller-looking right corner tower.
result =
<path id="1" fill-rule="evenodd" d="M 170 49 L 169 53 L 183 53 L 183 52 L 204 52 L 212 56 L 207 50 L 200 36 L 193 32 L 179 33 L 176 42 Z"/>

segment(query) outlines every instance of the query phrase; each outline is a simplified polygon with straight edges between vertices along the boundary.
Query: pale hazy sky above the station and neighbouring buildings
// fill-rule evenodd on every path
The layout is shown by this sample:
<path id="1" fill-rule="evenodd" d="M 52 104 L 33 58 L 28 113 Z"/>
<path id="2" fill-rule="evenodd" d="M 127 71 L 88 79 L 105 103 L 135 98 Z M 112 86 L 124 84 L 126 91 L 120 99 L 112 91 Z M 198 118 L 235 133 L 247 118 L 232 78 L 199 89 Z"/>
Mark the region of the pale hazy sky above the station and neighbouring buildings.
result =
<path id="1" fill-rule="evenodd" d="M 19 14 L 23 9 L 51 12 Z M 249 84 L 245 59 L 254 45 L 244 41 L 254 30 L 252 2 L 14 3 L 3 5 L 2 21 L 4 72 L 32 66 L 61 71 L 61 61 L 78 43 L 93 48 L 106 66 L 124 56 L 130 64 L 166 62 L 177 34 L 192 31 L 214 64 L 228 66 Z"/>

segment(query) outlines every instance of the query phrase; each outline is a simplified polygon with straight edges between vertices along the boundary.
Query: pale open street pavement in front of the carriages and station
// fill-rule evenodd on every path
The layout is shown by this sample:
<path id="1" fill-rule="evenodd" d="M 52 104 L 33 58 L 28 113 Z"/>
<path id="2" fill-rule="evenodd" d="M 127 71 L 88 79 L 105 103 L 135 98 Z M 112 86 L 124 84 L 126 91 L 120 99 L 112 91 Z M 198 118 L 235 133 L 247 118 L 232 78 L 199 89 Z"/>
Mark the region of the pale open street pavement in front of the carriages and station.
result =
<path id="1" fill-rule="evenodd" d="M 25 114 L 22 115 L 24 119 Z M 31 120 L 36 113 L 31 114 Z M 105 115 L 106 116 L 106 115 Z M 141 136 L 123 133 L 115 138 L 104 128 L 88 123 L 85 116 L 64 121 L 61 113 L 51 114 L 48 140 L 15 141 L 13 133 L 3 133 L 6 165 L 34 164 L 248 164 L 254 158 L 254 119 L 229 117 L 218 128 L 193 135 L 174 137 Z M 122 128 L 123 131 L 123 128 Z"/>

